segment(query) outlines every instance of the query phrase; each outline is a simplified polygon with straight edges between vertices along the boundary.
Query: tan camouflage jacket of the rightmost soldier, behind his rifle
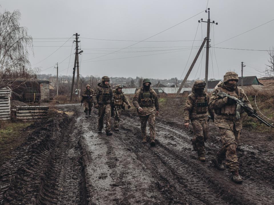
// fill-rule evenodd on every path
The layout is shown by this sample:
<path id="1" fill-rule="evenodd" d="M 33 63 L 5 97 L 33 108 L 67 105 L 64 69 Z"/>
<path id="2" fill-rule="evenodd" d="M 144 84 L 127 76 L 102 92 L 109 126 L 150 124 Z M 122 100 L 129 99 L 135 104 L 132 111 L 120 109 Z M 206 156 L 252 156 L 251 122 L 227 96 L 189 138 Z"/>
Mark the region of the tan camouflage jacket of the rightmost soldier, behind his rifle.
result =
<path id="1" fill-rule="evenodd" d="M 212 95 L 209 100 L 209 108 L 214 109 L 215 112 L 215 124 L 218 127 L 226 128 L 233 130 L 233 126 L 237 131 L 242 129 L 242 118 L 236 118 L 236 106 L 237 104 L 227 104 L 227 97 L 220 98 L 217 94 L 219 91 L 223 91 L 231 96 L 242 98 L 243 103 L 247 104 L 249 107 L 252 108 L 247 96 L 243 89 L 236 87 L 235 90 L 229 91 L 225 88 L 223 83 L 218 85 L 218 87 L 212 92 Z M 241 113 L 244 110 L 241 109 Z"/>

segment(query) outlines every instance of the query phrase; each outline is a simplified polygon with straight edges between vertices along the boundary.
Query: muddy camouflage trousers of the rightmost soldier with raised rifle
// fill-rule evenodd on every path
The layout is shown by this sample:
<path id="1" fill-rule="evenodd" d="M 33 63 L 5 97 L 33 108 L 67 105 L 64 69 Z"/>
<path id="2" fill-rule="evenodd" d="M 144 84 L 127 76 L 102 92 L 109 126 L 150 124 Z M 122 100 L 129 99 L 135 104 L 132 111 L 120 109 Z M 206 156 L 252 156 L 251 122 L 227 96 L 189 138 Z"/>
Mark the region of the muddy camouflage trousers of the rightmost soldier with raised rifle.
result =
<path id="1" fill-rule="evenodd" d="M 238 156 L 236 153 L 237 141 L 240 138 L 240 131 L 235 130 L 235 126 L 233 130 L 221 128 L 219 127 L 221 140 L 223 146 L 217 152 L 216 159 L 218 163 L 222 163 L 223 160 L 226 159 L 226 166 L 230 171 L 239 170 Z"/>

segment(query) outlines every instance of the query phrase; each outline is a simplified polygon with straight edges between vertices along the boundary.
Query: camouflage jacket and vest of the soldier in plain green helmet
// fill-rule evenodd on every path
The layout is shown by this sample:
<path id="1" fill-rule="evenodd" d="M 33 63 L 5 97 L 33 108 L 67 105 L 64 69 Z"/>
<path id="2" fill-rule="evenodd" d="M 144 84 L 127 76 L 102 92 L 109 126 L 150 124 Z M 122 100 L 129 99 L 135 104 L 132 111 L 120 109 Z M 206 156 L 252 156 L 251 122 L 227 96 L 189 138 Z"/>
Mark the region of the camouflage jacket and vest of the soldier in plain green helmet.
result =
<path id="1" fill-rule="evenodd" d="M 134 95 L 132 104 L 136 107 L 139 116 L 150 115 L 155 113 L 155 110 L 159 111 L 158 97 L 152 88 L 150 88 L 149 91 L 144 91 L 143 87 L 140 87 Z M 138 112 L 139 107 L 144 109 L 144 114 Z"/>

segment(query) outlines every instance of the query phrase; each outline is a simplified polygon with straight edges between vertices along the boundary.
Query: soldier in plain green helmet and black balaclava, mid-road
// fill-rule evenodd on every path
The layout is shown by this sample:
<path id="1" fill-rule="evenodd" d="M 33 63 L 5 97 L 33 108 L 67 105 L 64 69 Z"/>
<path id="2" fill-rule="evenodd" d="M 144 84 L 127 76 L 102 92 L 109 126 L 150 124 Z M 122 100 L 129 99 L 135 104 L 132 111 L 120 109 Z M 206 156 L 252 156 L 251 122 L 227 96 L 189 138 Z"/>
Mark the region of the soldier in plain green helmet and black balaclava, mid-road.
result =
<path id="1" fill-rule="evenodd" d="M 150 129 L 150 146 L 155 146 L 155 115 L 159 114 L 159 102 L 156 92 L 150 88 L 149 79 L 143 80 L 143 86 L 134 95 L 132 104 L 140 117 L 143 143 L 146 143 L 146 123 Z"/>

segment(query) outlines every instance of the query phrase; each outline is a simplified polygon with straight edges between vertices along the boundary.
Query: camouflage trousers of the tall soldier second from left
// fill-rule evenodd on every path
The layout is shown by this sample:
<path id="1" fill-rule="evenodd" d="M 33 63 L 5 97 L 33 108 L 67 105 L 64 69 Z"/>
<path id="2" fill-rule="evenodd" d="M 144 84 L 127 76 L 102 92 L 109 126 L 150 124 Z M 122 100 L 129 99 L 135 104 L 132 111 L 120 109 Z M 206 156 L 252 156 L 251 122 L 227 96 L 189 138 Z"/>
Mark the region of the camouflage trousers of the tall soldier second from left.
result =
<path id="1" fill-rule="evenodd" d="M 99 105 L 98 109 L 98 130 L 102 130 L 104 127 L 104 117 L 106 122 L 106 132 L 110 131 L 110 123 L 111 123 L 111 106 L 107 105 Z"/>

